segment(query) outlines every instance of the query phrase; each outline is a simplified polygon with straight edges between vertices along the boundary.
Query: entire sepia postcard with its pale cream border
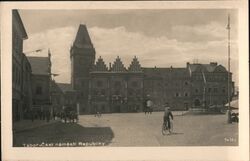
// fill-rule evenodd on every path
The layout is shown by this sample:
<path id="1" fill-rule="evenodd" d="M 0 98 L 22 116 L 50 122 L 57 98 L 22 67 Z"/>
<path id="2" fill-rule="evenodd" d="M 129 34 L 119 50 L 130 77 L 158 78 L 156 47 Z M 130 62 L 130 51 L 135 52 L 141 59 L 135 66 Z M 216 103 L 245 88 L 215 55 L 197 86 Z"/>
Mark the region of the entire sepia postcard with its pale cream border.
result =
<path id="1" fill-rule="evenodd" d="M 238 154 L 249 113 L 242 9 L 97 3 L 8 10 L 8 148 Z"/>

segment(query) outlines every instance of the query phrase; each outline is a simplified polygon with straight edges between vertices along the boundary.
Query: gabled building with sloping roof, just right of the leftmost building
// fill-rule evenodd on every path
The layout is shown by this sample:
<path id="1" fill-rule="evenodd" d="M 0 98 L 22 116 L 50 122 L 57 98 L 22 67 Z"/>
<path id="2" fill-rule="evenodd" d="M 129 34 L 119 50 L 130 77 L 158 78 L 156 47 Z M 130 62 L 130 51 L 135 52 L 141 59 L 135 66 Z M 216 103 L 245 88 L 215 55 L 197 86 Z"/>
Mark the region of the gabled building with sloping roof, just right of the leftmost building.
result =
<path id="1" fill-rule="evenodd" d="M 51 53 L 48 57 L 28 57 L 32 67 L 32 102 L 37 110 L 51 110 Z"/>

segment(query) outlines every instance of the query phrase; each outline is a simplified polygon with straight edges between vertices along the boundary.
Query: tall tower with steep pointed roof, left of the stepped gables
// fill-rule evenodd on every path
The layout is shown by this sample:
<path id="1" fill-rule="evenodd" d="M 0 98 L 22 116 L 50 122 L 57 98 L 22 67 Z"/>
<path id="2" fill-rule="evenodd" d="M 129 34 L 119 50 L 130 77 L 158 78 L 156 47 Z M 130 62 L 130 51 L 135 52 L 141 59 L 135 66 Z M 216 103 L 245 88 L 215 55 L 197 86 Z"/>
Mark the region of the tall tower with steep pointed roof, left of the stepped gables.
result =
<path id="1" fill-rule="evenodd" d="M 70 49 L 71 85 L 77 92 L 80 113 L 89 113 L 90 71 L 95 62 L 95 48 L 86 25 L 80 24 L 75 41 Z"/>

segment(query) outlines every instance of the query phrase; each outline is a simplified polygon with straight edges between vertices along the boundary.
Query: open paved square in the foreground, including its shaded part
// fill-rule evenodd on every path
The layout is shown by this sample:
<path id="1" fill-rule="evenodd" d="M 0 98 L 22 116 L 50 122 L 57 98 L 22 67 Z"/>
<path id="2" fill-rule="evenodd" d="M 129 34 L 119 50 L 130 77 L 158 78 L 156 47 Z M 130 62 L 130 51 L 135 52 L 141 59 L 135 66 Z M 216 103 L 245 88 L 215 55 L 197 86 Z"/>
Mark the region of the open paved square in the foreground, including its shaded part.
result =
<path id="1" fill-rule="evenodd" d="M 225 115 L 174 112 L 174 133 L 161 134 L 163 112 L 81 115 L 78 124 L 53 123 L 15 134 L 15 146 L 227 146 L 238 144 L 238 124 Z M 24 145 L 26 143 L 26 145 Z M 61 143 L 59 145 L 59 143 Z M 66 145 L 71 143 L 71 145 Z M 37 145 L 35 145 L 37 144 Z"/>

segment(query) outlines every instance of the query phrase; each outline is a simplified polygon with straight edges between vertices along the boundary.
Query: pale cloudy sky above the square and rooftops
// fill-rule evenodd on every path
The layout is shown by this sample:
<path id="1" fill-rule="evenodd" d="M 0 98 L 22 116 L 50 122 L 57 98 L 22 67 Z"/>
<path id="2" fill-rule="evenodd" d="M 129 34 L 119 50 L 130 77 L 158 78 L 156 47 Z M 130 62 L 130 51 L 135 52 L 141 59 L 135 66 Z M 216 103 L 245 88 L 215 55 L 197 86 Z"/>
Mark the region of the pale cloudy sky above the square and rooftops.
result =
<path id="1" fill-rule="evenodd" d="M 51 51 L 54 79 L 70 83 L 70 47 L 79 24 L 86 24 L 96 58 L 106 65 L 119 56 L 126 67 L 134 56 L 143 67 L 186 67 L 218 62 L 227 68 L 228 14 L 231 24 L 231 71 L 238 85 L 237 10 L 19 10 L 28 39 L 27 56 Z M 31 52 L 43 49 L 41 52 Z"/>

